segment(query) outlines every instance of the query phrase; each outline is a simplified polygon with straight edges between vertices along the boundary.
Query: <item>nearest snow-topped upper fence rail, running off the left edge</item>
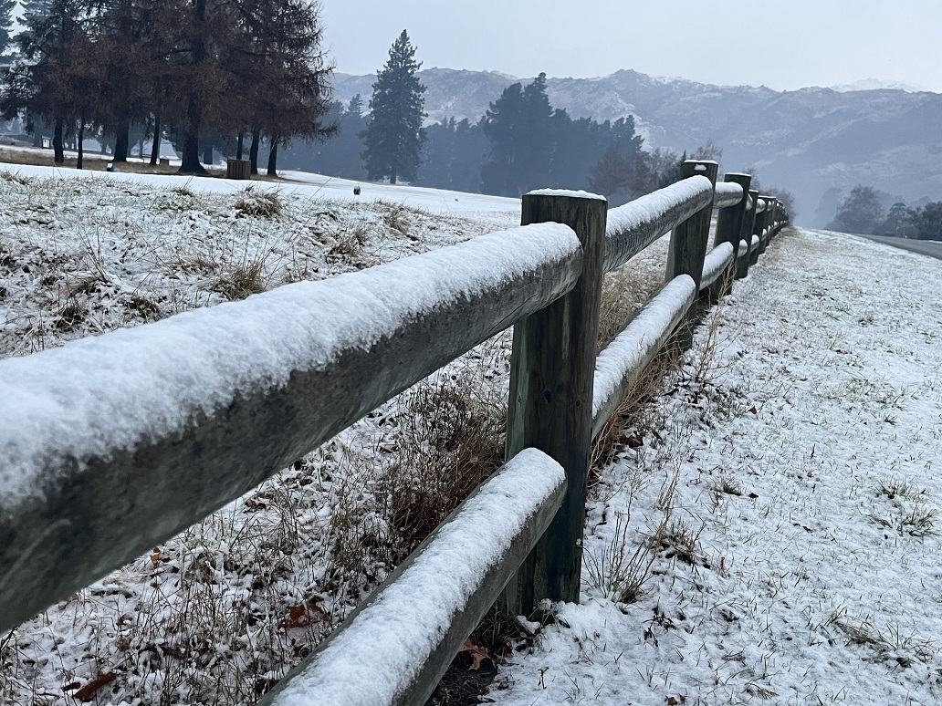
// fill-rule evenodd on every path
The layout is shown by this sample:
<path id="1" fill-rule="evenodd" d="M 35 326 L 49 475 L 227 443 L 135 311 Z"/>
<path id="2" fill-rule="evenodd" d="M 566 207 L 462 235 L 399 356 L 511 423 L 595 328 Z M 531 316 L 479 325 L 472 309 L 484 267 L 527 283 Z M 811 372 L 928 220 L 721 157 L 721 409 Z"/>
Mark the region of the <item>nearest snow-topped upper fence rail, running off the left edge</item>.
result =
<path id="1" fill-rule="evenodd" d="M 581 261 L 571 229 L 532 225 L 0 361 L 0 631 L 554 301 Z"/>

